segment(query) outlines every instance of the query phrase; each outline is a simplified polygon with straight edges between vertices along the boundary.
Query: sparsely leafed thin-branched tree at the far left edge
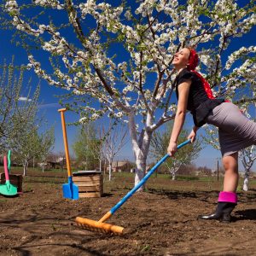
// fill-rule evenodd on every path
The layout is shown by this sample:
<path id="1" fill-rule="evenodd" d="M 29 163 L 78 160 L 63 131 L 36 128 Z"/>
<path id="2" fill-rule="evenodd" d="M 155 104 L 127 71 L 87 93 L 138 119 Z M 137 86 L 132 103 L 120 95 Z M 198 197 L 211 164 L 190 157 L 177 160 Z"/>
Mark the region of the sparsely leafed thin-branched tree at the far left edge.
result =
<path id="1" fill-rule="evenodd" d="M 20 137 L 34 125 L 37 111 L 39 84 L 32 95 L 31 79 L 23 84 L 24 70 L 12 63 L 3 64 L 0 74 L 0 151 L 9 149 L 11 139 Z M 17 74 L 18 73 L 18 74 Z M 27 90 L 26 96 L 22 92 Z"/>

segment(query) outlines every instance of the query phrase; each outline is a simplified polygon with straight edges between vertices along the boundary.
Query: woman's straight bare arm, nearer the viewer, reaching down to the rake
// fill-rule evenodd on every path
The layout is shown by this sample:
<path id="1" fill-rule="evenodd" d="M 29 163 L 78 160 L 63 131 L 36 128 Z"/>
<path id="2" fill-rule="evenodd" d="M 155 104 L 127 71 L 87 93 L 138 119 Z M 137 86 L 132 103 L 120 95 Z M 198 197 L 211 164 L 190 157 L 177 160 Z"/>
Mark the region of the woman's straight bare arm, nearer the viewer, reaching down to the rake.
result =
<path id="1" fill-rule="evenodd" d="M 177 138 L 183 128 L 184 120 L 186 117 L 188 99 L 189 99 L 189 87 L 191 80 L 179 84 L 178 90 L 178 102 L 177 102 L 177 112 L 174 119 L 174 124 L 172 128 L 172 136 L 170 139 L 169 146 L 167 148 L 167 153 L 170 155 L 175 154 L 177 151 Z"/>

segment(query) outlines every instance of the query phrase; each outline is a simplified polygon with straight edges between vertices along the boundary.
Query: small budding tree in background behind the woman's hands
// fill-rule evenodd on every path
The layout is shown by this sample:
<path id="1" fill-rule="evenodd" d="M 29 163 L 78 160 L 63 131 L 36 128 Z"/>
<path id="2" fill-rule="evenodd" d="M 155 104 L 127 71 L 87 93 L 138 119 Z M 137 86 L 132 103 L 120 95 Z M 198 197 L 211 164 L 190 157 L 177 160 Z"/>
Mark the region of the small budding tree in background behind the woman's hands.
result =
<path id="1" fill-rule="evenodd" d="M 155 159 L 160 159 L 166 154 L 166 148 L 170 141 L 170 134 L 172 131 L 173 121 L 166 125 L 166 129 L 162 132 L 155 131 L 150 152 Z M 178 143 L 183 143 L 187 140 L 189 131 L 183 130 L 178 138 Z M 174 157 L 170 157 L 165 161 L 165 165 L 172 174 L 172 180 L 175 179 L 176 172 L 182 165 L 189 165 L 192 160 L 195 160 L 201 151 L 201 141 L 196 140 L 195 143 L 189 144 L 186 147 L 177 150 Z"/>

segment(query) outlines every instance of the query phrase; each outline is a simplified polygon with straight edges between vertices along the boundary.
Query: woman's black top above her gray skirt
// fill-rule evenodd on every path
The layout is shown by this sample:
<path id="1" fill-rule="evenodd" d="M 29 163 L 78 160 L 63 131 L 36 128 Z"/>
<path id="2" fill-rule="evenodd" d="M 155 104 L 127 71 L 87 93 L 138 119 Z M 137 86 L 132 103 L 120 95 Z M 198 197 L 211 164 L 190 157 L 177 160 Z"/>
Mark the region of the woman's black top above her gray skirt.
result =
<path id="1" fill-rule="evenodd" d="M 184 68 L 174 81 L 176 87 L 176 96 L 178 100 L 177 86 L 187 80 L 191 80 L 189 88 L 189 99 L 187 110 L 193 115 L 194 123 L 197 127 L 206 124 L 206 118 L 213 108 L 224 102 L 224 99 L 210 99 L 207 96 L 201 79 L 193 72 L 190 72 L 187 68 Z"/>

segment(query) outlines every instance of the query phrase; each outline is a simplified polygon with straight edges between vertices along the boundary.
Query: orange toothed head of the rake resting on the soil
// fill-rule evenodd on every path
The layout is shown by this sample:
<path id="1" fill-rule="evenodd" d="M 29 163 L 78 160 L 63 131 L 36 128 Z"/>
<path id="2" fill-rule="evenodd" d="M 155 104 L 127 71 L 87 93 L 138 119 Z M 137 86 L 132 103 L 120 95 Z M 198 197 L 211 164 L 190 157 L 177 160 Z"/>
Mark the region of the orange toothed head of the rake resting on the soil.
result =
<path id="1" fill-rule="evenodd" d="M 122 235 L 124 230 L 123 227 L 102 223 L 100 221 L 95 221 L 89 218 L 77 217 L 75 222 L 85 230 L 98 231 L 105 234 L 112 233 L 114 235 Z"/>

